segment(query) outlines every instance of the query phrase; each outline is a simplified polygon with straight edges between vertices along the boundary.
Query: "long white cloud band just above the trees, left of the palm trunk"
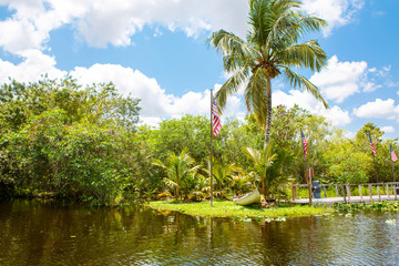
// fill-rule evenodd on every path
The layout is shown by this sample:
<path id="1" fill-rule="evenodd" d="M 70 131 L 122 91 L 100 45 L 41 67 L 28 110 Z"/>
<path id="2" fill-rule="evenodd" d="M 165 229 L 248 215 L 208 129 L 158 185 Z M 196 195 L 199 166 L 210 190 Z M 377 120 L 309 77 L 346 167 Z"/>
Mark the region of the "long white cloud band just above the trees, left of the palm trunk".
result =
<path id="1" fill-rule="evenodd" d="M 24 60 L 19 64 L 12 64 L 0 60 L 0 82 L 8 83 L 9 78 L 20 82 L 35 82 L 44 74 L 50 79 L 62 79 L 68 73 L 55 68 L 55 60 L 43 54 L 39 50 L 28 50 L 21 53 Z M 141 99 L 140 116 L 143 122 L 155 125 L 161 119 L 180 117 L 184 114 L 208 115 L 211 91 L 192 92 L 178 96 L 167 94 L 153 78 L 144 75 L 139 70 L 124 68 L 119 64 L 94 64 L 90 68 L 76 66 L 70 74 L 83 85 L 93 83 L 115 84 L 115 88 L 124 95 Z M 214 90 L 221 85 L 216 84 Z M 241 115 L 241 100 L 232 96 L 223 112 L 223 119 Z"/>

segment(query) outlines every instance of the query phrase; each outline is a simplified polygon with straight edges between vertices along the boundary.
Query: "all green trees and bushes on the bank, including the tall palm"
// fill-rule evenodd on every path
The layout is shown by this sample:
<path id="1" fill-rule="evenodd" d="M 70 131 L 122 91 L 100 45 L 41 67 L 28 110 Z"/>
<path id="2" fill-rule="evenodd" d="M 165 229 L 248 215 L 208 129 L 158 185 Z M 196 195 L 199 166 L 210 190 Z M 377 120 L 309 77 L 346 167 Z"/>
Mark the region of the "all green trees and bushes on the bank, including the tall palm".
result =
<path id="1" fill-rule="evenodd" d="M 316 40 L 299 43 L 326 21 L 304 13 L 297 0 L 249 0 L 249 32 L 214 32 L 207 42 L 223 53 L 231 78 L 217 91 L 227 98 L 244 88 L 245 121 L 227 119 L 213 142 L 209 120 L 183 115 L 158 127 L 139 126 L 140 100 L 112 83 L 82 88 L 71 76 L 0 86 L 0 200 L 52 196 L 113 205 L 167 197 L 198 201 L 258 188 L 266 197 L 287 196 L 305 183 L 307 167 L 321 183 L 392 181 L 397 140 L 372 123 L 355 137 L 320 116 L 294 106 L 272 109 L 272 82 L 282 78 L 327 106 L 319 90 L 297 68 L 319 71 L 327 57 Z M 306 135 L 304 160 L 300 130 Z M 371 153 L 372 136 L 377 156 Z M 178 155 L 176 155 L 178 154 Z M 396 174 L 398 176 L 398 174 Z"/>

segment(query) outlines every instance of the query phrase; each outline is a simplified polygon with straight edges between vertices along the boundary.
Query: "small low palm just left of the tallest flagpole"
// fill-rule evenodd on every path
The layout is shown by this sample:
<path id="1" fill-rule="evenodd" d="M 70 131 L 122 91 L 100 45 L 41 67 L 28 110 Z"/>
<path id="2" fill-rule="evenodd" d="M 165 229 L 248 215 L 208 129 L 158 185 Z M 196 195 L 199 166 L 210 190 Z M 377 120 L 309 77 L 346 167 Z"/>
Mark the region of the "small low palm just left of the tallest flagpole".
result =
<path id="1" fill-rule="evenodd" d="M 190 156 L 186 149 L 178 156 L 175 154 L 167 156 L 165 163 L 160 160 L 153 162 L 153 165 L 166 171 L 167 176 L 163 181 L 174 190 L 176 201 L 178 201 L 181 188 L 185 191 L 186 196 L 188 194 L 188 186 L 193 183 L 192 180 L 201 167 L 201 165 L 194 165 L 194 158 Z"/>

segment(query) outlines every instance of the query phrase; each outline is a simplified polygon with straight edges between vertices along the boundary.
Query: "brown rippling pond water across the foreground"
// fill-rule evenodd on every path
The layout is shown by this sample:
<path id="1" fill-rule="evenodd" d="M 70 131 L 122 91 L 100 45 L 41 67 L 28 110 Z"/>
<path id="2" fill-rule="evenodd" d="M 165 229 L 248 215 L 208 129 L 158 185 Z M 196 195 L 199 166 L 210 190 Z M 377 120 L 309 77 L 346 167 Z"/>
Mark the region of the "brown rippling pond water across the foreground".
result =
<path id="1" fill-rule="evenodd" d="M 13 201 L 0 204 L 0 265 L 395 265 L 398 228 L 387 213 L 259 224 Z"/>

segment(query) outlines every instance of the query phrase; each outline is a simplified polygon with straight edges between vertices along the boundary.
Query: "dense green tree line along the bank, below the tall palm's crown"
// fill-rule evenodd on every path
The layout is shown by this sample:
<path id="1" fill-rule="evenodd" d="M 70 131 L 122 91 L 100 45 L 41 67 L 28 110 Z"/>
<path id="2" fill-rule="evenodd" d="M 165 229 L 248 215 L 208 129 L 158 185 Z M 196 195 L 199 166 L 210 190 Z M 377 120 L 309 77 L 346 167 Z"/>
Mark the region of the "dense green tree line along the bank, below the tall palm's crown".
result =
<path id="1" fill-rule="evenodd" d="M 372 123 L 354 137 L 323 116 L 273 109 L 270 140 L 254 115 L 227 119 L 214 140 L 214 196 L 255 187 L 287 197 L 306 183 L 307 164 L 321 183 L 392 181 L 393 140 Z M 140 100 L 112 83 L 82 88 L 71 76 L 0 86 L 0 195 L 51 196 L 100 205 L 209 196 L 209 119 L 186 114 L 157 127 L 139 125 Z M 377 156 L 370 150 L 371 134 Z M 397 171 L 397 163 L 393 164 Z"/>

